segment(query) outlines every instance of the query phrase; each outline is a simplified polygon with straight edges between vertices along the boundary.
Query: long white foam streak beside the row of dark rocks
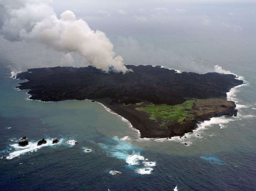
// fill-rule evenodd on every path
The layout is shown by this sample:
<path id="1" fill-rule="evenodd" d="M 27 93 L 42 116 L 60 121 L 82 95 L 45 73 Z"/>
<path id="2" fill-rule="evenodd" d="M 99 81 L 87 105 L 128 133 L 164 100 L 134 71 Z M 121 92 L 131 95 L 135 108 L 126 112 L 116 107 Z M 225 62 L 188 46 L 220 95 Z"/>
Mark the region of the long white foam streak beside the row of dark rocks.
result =
<path id="1" fill-rule="evenodd" d="M 29 142 L 27 146 L 25 147 L 20 147 L 19 144 L 14 144 L 10 145 L 12 148 L 15 149 L 14 152 L 9 153 L 9 155 L 6 157 L 6 159 L 13 159 L 15 157 L 18 157 L 22 154 L 25 154 L 27 152 L 34 152 L 37 151 L 38 149 L 41 149 L 42 147 L 47 147 L 47 146 L 53 146 L 53 145 L 60 145 L 63 141 L 63 139 L 60 139 L 59 143 L 57 144 L 52 144 L 52 139 L 46 139 L 47 143 L 37 146 L 38 141 L 36 142 Z"/>

